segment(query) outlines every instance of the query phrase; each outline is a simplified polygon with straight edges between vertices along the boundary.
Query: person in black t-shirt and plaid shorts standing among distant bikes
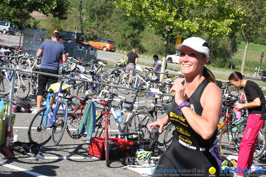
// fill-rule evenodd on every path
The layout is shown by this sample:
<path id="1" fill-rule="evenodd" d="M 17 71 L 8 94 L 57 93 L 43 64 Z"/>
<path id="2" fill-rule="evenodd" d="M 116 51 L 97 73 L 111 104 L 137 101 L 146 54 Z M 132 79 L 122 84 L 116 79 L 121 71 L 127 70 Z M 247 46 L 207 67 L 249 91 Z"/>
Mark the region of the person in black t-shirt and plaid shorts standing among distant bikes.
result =
<path id="1" fill-rule="evenodd" d="M 136 63 L 138 63 L 138 59 L 139 59 L 139 55 L 136 54 L 137 52 L 137 49 L 136 48 L 133 48 L 131 50 L 131 52 L 129 52 L 127 54 L 127 67 L 126 67 L 126 72 L 130 72 L 132 75 L 134 73 L 134 70 L 127 70 L 127 69 L 135 69 L 135 66 L 136 66 Z M 125 77 L 128 77 L 128 75 L 126 75 Z M 128 84 L 131 83 L 131 75 L 129 75 L 129 78 L 128 78 Z M 125 82 L 126 82 L 126 79 L 125 79 Z"/>

